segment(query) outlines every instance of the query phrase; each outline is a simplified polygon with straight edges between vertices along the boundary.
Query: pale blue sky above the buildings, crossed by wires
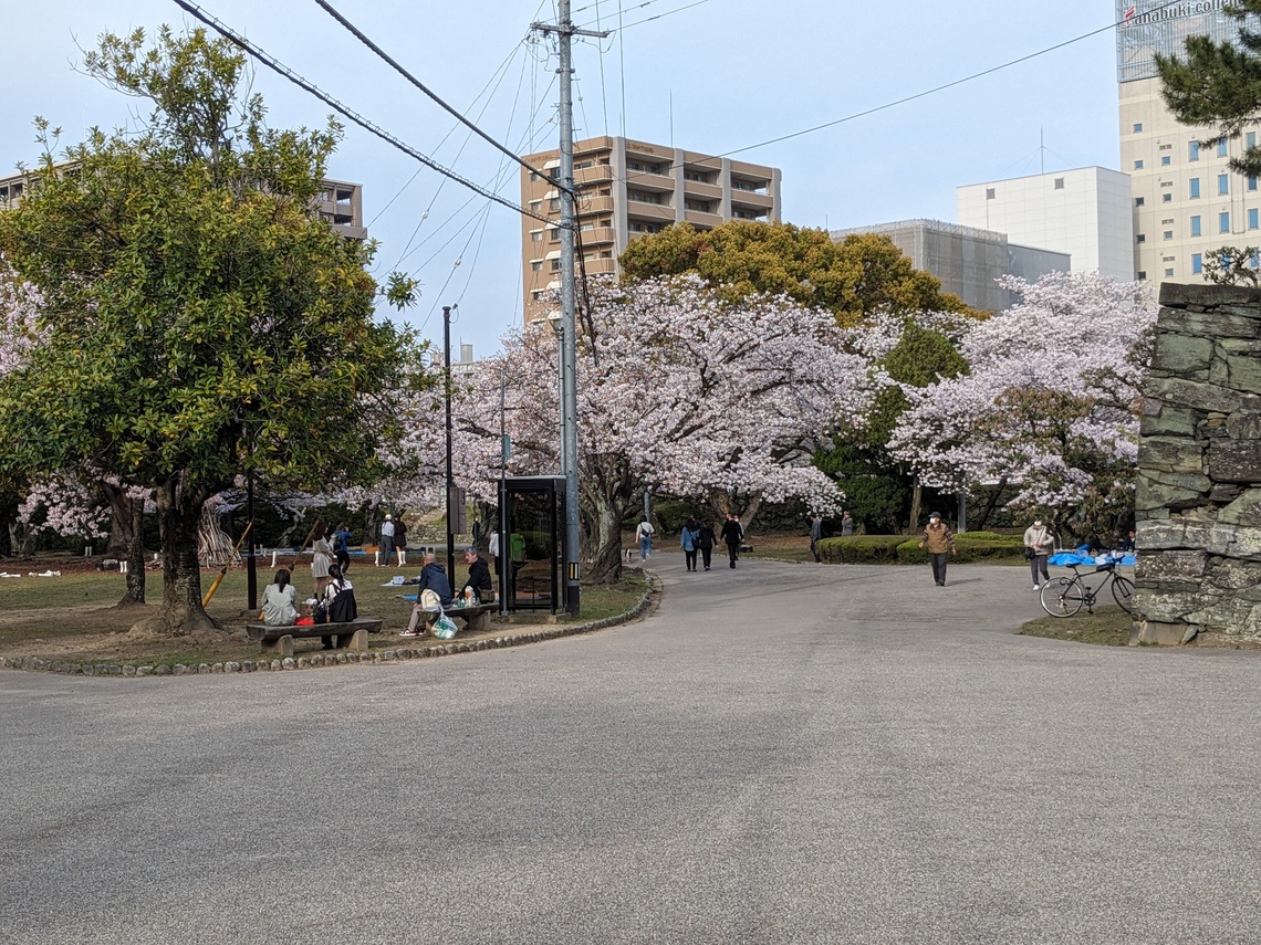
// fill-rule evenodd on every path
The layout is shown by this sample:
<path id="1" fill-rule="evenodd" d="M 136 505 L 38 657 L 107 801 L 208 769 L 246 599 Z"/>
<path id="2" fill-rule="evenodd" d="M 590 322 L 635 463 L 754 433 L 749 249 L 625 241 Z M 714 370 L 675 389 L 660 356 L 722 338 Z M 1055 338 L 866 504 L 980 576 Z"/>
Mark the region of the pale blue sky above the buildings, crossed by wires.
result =
<path id="1" fill-rule="evenodd" d="M 578 135 L 620 134 L 712 154 L 747 149 L 913 96 L 1107 26 L 1111 0 L 623 0 L 624 29 L 575 52 Z M 416 150 L 518 198 L 502 155 L 421 96 L 310 0 L 202 0 L 200 6 Z M 523 42 L 552 0 L 334 3 L 421 82 L 509 146 L 555 146 L 556 60 Z M 615 0 L 574 0 L 574 20 L 615 28 Z M 690 9 L 682 9 L 689 8 Z M 652 19 L 656 18 L 656 19 Z M 102 32 L 187 18 L 170 0 L 55 0 L 5 13 L 0 166 L 33 160 L 30 118 L 78 141 L 148 110 L 74 72 Z M 955 88 L 754 150 L 783 170 L 784 218 L 832 229 L 910 217 L 955 218 L 955 186 L 1119 160 L 1115 34 Z M 624 87 L 620 78 L 624 76 Z M 259 68 L 276 126 L 322 125 L 327 106 Z M 453 130 L 455 129 L 455 130 Z M 1045 147 L 1039 147 L 1042 135 Z M 525 146 L 533 137 L 530 147 Z M 329 173 L 364 184 L 381 272 L 422 284 L 406 318 L 478 357 L 521 319 L 518 218 L 356 127 Z M 469 203 L 469 198 L 474 199 Z M 456 265 L 458 263 L 458 265 Z"/>

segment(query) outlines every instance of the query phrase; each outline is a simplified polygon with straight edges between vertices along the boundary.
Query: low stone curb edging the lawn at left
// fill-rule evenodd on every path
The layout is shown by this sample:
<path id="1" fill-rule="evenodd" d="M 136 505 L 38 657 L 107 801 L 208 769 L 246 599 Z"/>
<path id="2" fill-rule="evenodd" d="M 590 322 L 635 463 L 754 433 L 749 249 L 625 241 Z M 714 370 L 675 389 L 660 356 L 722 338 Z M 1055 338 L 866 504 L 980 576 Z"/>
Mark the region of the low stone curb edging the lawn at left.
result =
<path id="1" fill-rule="evenodd" d="M 559 640 L 564 636 L 578 636 L 590 634 L 596 630 L 607 630 L 612 626 L 628 624 L 637 617 L 644 616 L 654 609 L 662 593 L 661 580 L 651 571 L 643 572 L 648 578 L 648 590 L 639 597 L 630 610 L 615 614 L 603 620 L 593 620 L 586 624 L 574 624 L 572 626 L 556 626 L 547 630 L 538 630 L 522 634 L 508 634 L 485 640 L 473 640 L 469 643 L 439 643 L 430 646 L 404 646 L 395 650 L 377 650 L 376 653 L 346 653 L 338 651 L 329 655 L 315 654 L 311 656 L 299 656 L 294 659 L 259 659 L 259 660 L 230 660 L 226 663 L 200 663 L 187 665 L 175 663 L 173 665 L 160 664 L 151 667 L 137 667 L 130 663 L 71 663 L 66 660 L 39 659 L 38 656 L 0 656 L 0 669 L 23 669 L 30 673 L 58 673 L 61 675 L 110 675 L 110 677 L 171 677 L 171 675 L 218 675 L 223 673 L 276 673 L 293 669 L 320 669 L 325 667 L 339 667 L 349 664 L 378 664 L 400 663 L 411 659 L 426 659 L 430 656 L 451 656 L 458 653 L 480 653 L 482 650 L 499 650 L 508 646 L 523 646 L 531 643 L 543 643 L 546 640 Z"/>

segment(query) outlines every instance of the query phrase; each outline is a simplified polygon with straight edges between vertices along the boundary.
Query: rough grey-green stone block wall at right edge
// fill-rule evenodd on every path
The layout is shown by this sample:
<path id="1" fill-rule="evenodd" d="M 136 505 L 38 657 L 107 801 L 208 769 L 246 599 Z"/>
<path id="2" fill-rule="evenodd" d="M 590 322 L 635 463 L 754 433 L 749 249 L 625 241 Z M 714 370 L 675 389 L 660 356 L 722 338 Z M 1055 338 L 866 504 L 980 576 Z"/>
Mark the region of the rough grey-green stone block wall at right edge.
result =
<path id="1" fill-rule="evenodd" d="M 1132 641 L 1261 640 L 1261 290 L 1161 286 L 1135 518 Z"/>

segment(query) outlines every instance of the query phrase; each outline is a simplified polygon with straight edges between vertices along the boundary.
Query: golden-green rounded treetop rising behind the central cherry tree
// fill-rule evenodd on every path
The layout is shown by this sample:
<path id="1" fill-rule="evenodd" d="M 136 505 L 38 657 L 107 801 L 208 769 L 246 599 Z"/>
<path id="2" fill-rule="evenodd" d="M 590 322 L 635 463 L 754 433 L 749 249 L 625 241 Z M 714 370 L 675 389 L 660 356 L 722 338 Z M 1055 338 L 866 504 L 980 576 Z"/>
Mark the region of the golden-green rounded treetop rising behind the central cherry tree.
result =
<path id="1" fill-rule="evenodd" d="M 707 231 L 680 223 L 636 239 L 619 262 L 628 280 L 696 272 L 733 299 L 786 294 L 832 311 L 841 325 L 876 311 L 970 311 L 876 233 L 836 243 L 827 231 L 791 223 L 733 220 Z"/>

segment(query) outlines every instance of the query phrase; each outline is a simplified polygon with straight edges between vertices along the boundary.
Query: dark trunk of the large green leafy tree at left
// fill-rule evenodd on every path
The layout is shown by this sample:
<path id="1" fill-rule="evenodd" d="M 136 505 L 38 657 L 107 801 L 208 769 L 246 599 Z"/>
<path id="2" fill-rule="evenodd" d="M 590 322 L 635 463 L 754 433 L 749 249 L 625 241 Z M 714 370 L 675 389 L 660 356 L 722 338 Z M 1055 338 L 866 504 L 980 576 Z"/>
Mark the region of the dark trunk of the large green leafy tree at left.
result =
<path id="1" fill-rule="evenodd" d="M 202 568 L 197 554 L 198 525 L 204 490 L 184 490 L 179 480 L 163 483 L 154 490 L 158 524 L 161 530 L 161 612 L 141 621 L 140 629 L 159 629 L 170 636 L 192 636 L 216 630 L 214 621 L 202 609 Z"/>

